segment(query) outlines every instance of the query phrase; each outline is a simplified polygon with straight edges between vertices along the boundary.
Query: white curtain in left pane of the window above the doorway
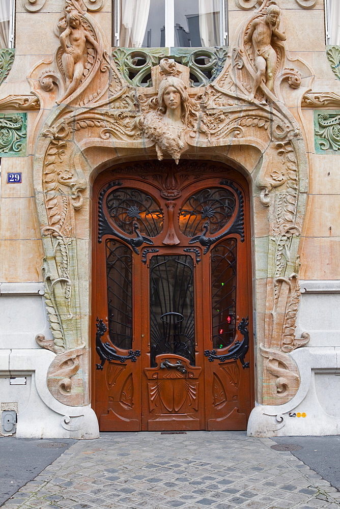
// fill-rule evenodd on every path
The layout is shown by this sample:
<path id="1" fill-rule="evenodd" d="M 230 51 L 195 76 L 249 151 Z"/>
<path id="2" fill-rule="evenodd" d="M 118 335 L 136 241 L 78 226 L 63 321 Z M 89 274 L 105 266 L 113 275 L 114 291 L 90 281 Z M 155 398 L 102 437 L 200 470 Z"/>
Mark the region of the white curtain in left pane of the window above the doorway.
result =
<path id="1" fill-rule="evenodd" d="M 147 28 L 150 0 L 121 1 L 121 31 L 119 45 L 140 48 Z"/>

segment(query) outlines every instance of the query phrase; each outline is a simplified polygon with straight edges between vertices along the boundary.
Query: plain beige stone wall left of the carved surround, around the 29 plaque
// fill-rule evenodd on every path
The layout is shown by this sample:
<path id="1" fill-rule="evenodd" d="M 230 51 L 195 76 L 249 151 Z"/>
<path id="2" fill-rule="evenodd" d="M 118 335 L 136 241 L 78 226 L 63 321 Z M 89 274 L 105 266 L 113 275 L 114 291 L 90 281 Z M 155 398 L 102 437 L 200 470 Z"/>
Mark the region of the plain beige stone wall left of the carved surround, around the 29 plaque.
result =
<path id="1" fill-rule="evenodd" d="M 92 16 L 111 41 L 111 0 Z M 28 12 L 22 0 L 16 0 L 15 59 L 11 71 L 0 86 L 0 99 L 9 95 L 29 95 L 27 76 L 42 60 L 53 67 L 54 52 L 59 45 L 55 26 L 61 17 L 64 0 L 46 0 L 39 12 Z M 1 112 L 13 109 L 1 109 Z M 3 157 L 0 199 L 0 282 L 43 281 L 41 267 L 43 247 L 37 218 L 33 186 L 33 155 L 36 125 L 48 115 L 47 110 L 29 112 L 27 157 Z M 7 173 L 21 172 L 22 184 L 7 184 Z"/>

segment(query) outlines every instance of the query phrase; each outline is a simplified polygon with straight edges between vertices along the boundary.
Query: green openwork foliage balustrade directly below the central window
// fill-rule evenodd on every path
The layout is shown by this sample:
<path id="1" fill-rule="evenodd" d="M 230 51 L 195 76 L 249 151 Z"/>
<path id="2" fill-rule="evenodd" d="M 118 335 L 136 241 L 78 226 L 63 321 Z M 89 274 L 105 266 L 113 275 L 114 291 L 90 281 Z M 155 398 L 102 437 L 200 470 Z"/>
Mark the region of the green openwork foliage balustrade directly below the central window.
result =
<path id="1" fill-rule="evenodd" d="M 202 87 L 212 82 L 222 71 L 226 48 L 116 48 L 112 52 L 117 69 L 134 87 L 152 87 L 151 68 L 164 56 L 188 66 L 190 87 Z"/>

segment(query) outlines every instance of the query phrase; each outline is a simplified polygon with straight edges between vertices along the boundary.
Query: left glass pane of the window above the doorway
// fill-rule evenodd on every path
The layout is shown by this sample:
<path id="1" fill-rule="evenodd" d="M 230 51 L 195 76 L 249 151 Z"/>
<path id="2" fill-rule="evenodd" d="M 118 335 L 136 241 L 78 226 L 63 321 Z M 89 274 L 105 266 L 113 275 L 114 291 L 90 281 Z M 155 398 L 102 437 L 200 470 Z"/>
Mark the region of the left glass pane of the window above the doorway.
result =
<path id="1" fill-rule="evenodd" d="M 164 0 L 122 0 L 120 46 L 164 46 L 164 16 Z"/>

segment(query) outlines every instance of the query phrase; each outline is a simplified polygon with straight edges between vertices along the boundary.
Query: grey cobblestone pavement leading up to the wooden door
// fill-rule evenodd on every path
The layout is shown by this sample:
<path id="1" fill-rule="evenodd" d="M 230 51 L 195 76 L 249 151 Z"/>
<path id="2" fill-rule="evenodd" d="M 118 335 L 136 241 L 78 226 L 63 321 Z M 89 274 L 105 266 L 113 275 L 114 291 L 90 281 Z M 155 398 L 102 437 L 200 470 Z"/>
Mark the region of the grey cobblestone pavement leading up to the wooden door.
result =
<path id="1" fill-rule="evenodd" d="M 339 491 L 271 445 L 245 432 L 106 433 L 72 445 L 2 507 L 340 508 Z"/>

